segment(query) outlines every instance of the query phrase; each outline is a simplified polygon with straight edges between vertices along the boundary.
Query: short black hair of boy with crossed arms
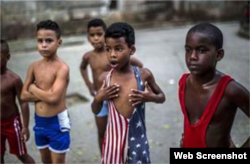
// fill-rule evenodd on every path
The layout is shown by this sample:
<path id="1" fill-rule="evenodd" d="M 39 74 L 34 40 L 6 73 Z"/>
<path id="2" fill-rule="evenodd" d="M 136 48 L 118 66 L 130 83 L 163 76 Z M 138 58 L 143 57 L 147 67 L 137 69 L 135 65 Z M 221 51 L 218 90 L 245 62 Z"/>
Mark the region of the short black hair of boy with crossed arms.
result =
<path id="1" fill-rule="evenodd" d="M 61 30 L 58 24 L 52 20 L 44 20 L 37 24 L 36 32 L 41 29 L 53 30 L 56 33 L 56 37 L 59 39 L 61 37 Z"/>

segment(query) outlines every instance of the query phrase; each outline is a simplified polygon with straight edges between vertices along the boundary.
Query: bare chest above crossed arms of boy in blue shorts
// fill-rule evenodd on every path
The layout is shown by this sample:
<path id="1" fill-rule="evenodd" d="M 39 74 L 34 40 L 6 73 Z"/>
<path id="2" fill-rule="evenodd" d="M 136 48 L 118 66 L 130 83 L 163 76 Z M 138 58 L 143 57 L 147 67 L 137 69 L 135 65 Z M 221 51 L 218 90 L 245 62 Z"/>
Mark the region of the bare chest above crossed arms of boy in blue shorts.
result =
<path id="1" fill-rule="evenodd" d="M 55 82 L 56 73 L 57 67 L 39 65 L 39 68 L 34 70 L 36 85 L 42 89 L 50 89 Z"/>

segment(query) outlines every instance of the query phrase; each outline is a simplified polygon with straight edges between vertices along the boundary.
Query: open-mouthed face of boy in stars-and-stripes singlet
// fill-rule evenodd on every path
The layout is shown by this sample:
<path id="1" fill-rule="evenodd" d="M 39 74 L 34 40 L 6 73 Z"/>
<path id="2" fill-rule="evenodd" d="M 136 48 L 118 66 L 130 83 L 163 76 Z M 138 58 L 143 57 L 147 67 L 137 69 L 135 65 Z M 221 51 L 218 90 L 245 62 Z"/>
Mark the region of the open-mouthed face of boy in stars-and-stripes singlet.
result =
<path id="1" fill-rule="evenodd" d="M 130 60 L 135 51 L 134 46 L 128 47 L 125 37 L 106 38 L 106 51 L 111 67 L 121 68 Z"/>

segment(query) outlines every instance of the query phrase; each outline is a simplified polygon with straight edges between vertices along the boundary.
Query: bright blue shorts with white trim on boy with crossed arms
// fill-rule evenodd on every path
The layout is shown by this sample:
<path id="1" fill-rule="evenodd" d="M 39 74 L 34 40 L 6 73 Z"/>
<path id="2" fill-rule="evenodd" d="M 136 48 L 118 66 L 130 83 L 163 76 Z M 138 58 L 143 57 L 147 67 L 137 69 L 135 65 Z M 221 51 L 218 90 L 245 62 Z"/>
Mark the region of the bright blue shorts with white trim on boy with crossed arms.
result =
<path id="1" fill-rule="evenodd" d="M 70 119 L 65 110 L 56 116 L 40 117 L 35 114 L 35 142 L 38 149 L 49 148 L 55 153 L 69 151 Z"/>

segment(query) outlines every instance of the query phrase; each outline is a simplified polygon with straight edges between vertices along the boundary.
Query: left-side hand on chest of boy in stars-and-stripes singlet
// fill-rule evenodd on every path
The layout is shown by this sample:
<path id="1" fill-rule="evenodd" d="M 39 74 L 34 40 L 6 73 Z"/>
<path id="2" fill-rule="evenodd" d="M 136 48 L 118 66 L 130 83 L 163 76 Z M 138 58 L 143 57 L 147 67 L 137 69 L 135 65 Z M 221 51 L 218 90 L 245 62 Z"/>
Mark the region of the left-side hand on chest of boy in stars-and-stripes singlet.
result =
<path id="1" fill-rule="evenodd" d="M 99 102 L 104 100 L 111 100 L 118 97 L 118 92 L 120 90 L 120 86 L 118 84 L 114 84 L 112 86 L 106 86 L 105 80 L 102 83 L 101 88 L 97 91 L 95 99 Z"/>

